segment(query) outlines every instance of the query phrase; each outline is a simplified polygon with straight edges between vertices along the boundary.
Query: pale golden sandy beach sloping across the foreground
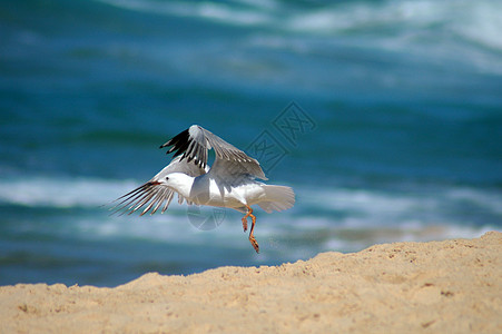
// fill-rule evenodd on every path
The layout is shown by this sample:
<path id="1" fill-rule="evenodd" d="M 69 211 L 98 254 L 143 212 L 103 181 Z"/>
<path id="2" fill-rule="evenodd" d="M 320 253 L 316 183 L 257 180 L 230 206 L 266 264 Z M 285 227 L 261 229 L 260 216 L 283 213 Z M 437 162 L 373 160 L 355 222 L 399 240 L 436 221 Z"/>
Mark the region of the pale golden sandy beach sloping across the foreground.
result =
<path id="1" fill-rule="evenodd" d="M 293 264 L 0 287 L 1 333 L 502 333 L 502 233 Z"/>

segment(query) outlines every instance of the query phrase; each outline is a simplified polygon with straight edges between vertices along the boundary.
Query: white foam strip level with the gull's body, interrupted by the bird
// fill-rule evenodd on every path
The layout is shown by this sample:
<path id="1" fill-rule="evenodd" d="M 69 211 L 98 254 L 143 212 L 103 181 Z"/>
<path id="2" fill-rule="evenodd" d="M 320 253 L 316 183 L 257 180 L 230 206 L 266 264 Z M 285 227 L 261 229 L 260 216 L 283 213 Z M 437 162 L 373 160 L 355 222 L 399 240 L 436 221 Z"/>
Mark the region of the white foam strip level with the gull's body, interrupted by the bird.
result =
<path id="1" fill-rule="evenodd" d="M 110 204 L 140 184 L 141 181 L 138 180 L 81 177 L 40 176 L 0 179 L 0 202 L 32 207 L 97 207 Z M 465 205 L 471 205 L 489 215 L 502 215 L 502 194 L 496 189 L 466 186 L 421 188 L 420 185 L 414 185 L 411 187 L 407 191 L 295 187 L 297 205 L 293 210 L 296 210 L 295 216 L 301 209 L 307 209 L 311 213 L 321 212 L 323 216 L 344 214 L 347 219 L 354 222 L 365 217 L 373 217 L 373 219 L 401 217 L 400 220 L 405 220 L 410 215 L 415 216 L 416 213 L 444 213 L 445 208 L 454 209 Z M 173 205 L 178 206 L 175 202 Z M 286 216 L 289 216 L 288 213 L 292 210 L 286 210 Z M 439 215 L 432 215 L 434 216 Z M 344 218 L 339 220 L 343 222 Z"/>

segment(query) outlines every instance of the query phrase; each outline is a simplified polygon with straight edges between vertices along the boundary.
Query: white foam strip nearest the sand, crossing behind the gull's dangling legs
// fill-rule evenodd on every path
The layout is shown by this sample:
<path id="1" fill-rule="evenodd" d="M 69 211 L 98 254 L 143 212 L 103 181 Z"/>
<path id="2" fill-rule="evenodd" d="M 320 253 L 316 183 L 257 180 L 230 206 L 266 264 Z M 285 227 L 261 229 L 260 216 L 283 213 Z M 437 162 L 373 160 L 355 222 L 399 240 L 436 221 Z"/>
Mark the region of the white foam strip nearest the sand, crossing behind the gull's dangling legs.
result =
<path id="1" fill-rule="evenodd" d="M 318 224 L 311 226 L 312 218 L 297 217 L 277 219 L 279 214 L 258 214 L 255 236 L 263 246 L 288 257 L 306 258 L 318 252 L 358 252 L 374 244 L 395 242 L 430 242 L 450 238 L 480 237 L 493 226 L 462 226 L 457 224 L 422 225 L 421 222 L 385 226 L 336 226 Z M 234 249 L 250 247 L 247 233 L 243 233 L 240 219 L 227 217 L 211 230 L 195 228 L 189 219 L 180 215 L 147 217 L 75 217 L 71 224 L 60 224 L 53 234 L 90 240 L 137 239 L 167 243 L 170 245 L 222 245 Z M 321 222 L 317 222 L 321 223 Z M 333 223 L 333 222 L 331 222 Z M 262 258 L 263 261 L 264 258 Z"/>

